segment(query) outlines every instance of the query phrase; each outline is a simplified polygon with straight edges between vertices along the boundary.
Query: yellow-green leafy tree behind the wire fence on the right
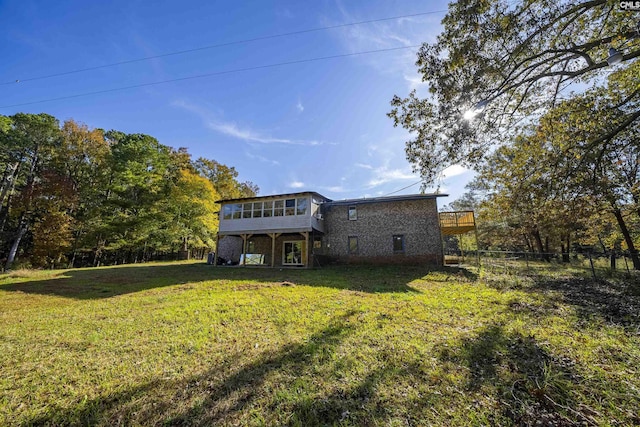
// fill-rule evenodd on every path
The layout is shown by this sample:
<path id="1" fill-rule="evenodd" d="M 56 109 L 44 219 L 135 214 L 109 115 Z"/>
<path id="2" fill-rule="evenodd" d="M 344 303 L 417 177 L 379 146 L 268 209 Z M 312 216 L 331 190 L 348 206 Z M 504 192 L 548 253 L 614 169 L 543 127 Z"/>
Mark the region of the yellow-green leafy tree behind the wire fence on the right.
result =
<path id="1" fill-rule="evenodd" d="M 628 213 L 638 211 L 640 124 L 627 126 L 606 144 L 591 144 L 593 135 L 615 122 L 617 114 L 611 105 L 619 99 L 612 84 L 588 90 L 560 103 L 530 131 L 492 153 L 475 182 L 487 194 L 483 219 L 507 221 L 508 229 L 540 252 L 548 251 L 544 234 L 545 241 L 560 242 L 566 254 L 587 223 L 605 228 L 606 221 L 593 220 L 604 212 L 610 220 L 615 218 L 634 267 L 640 268 L 628 219 Z M 606 240 L 603 231 L 595 232 L 601 244 Z M 533 245 L 527 236 L 533 238 Z M 614 238 L 612 249 L 617 246 Z"/>

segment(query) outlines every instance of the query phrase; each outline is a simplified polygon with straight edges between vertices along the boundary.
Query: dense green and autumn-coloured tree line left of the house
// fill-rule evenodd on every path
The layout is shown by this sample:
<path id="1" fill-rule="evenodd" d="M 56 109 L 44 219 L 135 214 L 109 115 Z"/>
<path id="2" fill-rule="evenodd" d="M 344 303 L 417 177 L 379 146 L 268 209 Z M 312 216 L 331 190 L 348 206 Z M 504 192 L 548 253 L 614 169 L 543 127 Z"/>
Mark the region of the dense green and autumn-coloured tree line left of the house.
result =
<path id="1" fill-rule="evenodd" d="M 0 116 L 0 261 L 99 266 L 214 247 L 216 204 L 258 187 L 152 136 L 49 114 Z"/>

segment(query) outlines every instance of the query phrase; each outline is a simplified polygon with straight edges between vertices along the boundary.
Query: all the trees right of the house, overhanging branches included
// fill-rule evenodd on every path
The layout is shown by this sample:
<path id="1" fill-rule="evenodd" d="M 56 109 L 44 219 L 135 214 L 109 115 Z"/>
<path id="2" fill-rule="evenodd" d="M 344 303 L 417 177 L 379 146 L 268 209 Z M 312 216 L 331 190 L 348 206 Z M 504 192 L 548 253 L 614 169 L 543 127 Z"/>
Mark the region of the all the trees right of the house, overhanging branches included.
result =
<path id="1" fill-rule="evenodd" d="M 389 113 L 425 183 L 476 170 L 454 207 L 477 210 L 483 249 L 627 251 L 640 269 L 637 16 L 607 0 L 460 0 L 443 26 L 418 53 L 429 95 Z"/>

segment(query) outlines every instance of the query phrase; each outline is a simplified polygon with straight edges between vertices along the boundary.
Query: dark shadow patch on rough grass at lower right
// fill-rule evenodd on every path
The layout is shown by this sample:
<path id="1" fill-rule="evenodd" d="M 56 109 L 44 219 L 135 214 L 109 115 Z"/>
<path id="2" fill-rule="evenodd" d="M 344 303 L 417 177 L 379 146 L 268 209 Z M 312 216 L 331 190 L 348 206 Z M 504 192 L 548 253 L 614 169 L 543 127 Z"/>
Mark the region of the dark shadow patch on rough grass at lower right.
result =
<path id="1" fill-rule="evenodd" d="M 534 337 L 507 334 L 498 324 L 463 340 L 459 348 L 440 351 L 443 362 L 466 365 L 468 392 L 495 387 L 498 413 L 515 425 L 593 425 L 589 414 L 573 409 L 580 405 L 571 389 L 581 379 L 572 362 L 545 351 Z M 499 419 L 494 420 L 497 424 Z"/>

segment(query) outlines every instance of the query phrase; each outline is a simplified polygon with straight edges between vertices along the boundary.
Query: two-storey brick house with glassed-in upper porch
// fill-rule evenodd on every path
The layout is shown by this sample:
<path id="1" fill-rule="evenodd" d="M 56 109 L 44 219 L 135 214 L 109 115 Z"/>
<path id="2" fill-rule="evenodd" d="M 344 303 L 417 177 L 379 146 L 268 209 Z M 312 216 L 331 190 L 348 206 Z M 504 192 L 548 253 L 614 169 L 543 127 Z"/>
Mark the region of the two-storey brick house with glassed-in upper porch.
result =
<path id="1" fill-rule="evenodd" d="M 240 264 L 443 262 L 437 197 L 330 200 L 316 192 L 224 200 L 216 253 Z"/>

